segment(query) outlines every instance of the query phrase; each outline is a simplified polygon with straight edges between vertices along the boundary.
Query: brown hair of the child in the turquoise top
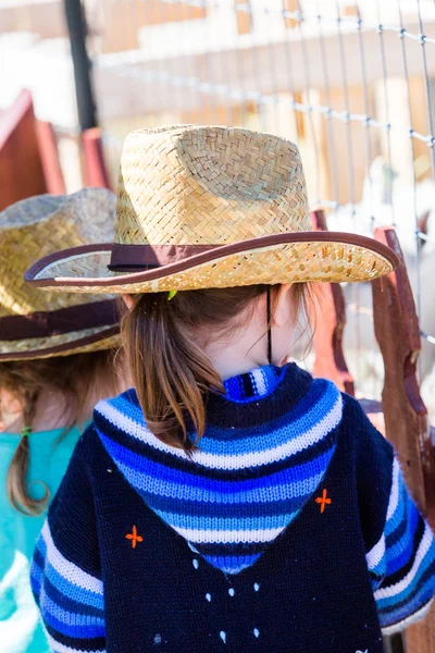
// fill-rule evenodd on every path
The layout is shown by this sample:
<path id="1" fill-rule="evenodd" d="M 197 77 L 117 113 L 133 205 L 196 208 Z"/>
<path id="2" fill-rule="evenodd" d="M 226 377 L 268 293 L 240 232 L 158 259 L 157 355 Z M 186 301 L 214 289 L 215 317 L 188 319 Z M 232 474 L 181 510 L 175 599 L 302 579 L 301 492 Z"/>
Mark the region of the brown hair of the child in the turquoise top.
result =
<path id="1" fill-rule="evenodd" d="M 15 360 L 0 364 L 0 387 L 23 406 L 24 427 L 32 429 L 42 392 L 61 393 L 65 402 L 66 432 L 79 421 L 80 409 L 90 392 L 100 384 L 104 393 L 116 392 L 113 359 L 115 350 L 75 354 L 37 360 Z M 97 386 L 99 387 L 99 386 Z M 0 421 L 4 418 L 0 405 Z M 47 506 L 49 490 L 41 498 L 29 494 L 26 476 L 29 466 L 28 439 L 23 435 L 8 470 L 8 495 L 12 505 L 25 515 L 40 515 Z"/>

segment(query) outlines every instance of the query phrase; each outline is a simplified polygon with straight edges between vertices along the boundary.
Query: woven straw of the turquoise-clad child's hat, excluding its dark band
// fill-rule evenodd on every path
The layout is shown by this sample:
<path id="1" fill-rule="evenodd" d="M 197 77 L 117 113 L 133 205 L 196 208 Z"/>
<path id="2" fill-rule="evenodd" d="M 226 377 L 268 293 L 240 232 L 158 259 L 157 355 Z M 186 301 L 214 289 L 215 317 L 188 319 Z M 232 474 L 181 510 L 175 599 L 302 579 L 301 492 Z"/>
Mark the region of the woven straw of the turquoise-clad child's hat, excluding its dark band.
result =
<path id="1" fill-rule="evenodd" d="M 26 269 L 36 258 L 64 247 L 110 242 L 114 231 L 115 196 L 103 188 L 87 188 L 71 196 L 32 197 L 0 213 L 0 320 L 7 316 L 26 316 L 35 311 L 53 311 L 70 306 L 101 301 L 101 295 L 42 293 L 24 282 Z M 86 310 L 86 309 L 85 309 Z M 83 330 L 49 338 L 0 341 L 0 355 L 39 352 L 71 343 L 62 354 L 76 353 L 74 342 L 94 335 L 96 341 L 105 328 Z M 113 346 L 117 338 L 86 345 L 80 350 Z M 78 353 L 78 352 L 77 352 Z M 39 353 L 35 354 L 35 358 Z"/>

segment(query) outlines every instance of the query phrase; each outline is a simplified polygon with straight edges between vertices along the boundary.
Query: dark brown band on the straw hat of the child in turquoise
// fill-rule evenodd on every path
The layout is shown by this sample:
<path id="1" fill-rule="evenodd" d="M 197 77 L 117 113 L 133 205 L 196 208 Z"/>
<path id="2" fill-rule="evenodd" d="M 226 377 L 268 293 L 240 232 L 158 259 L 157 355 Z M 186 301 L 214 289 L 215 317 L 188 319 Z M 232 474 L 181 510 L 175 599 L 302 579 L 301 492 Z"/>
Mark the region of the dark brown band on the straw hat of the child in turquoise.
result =
<path id="1" fill-rule="evenodd" d="M 119 321 L 116 299 L 69 306 L 50 312 L 0 318 L 0 341 L 50 337 L 84 329 L 112 326 Z"/>

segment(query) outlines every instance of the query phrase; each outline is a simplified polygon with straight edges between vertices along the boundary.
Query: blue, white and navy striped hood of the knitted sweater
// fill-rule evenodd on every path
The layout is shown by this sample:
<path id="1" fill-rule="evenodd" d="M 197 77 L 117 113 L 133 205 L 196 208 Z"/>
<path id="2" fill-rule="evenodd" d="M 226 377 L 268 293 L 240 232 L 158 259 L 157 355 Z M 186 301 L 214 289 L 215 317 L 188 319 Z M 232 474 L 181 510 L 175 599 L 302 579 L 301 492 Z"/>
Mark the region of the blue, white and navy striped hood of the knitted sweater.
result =
<path id="1" fill-rule="evenodd" d="M 343 402 L 333 383 L 294 364 L 265 366 L 224 385 L 225 395 L 208 401 L 208 427 L 191 456 L 149 431 L 134 390 L 100 402 L 94 419 L 147 506 L 213 567 L 238 574 L 319 490 Z"/>

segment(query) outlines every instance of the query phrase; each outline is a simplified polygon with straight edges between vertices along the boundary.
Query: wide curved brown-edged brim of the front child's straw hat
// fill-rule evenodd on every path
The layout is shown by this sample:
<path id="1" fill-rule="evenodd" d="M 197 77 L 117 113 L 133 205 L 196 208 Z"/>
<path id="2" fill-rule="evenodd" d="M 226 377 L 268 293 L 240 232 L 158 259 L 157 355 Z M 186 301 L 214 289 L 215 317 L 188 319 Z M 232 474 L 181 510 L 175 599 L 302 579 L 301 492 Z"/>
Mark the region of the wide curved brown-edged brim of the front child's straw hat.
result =
<path id="1" fill-rule="evenodd" d="M 372 281 L 400 260 L 387 246 L 340 232 L 283 233 L 231 245 L 138 272 L 109 270 L 111 245 L 87 245 L 34 263 L 32 285 L 74 293 L 156 293 L 300 282 Z"/>

